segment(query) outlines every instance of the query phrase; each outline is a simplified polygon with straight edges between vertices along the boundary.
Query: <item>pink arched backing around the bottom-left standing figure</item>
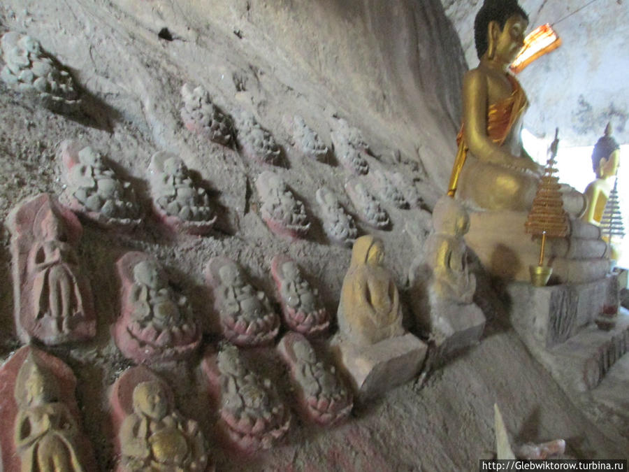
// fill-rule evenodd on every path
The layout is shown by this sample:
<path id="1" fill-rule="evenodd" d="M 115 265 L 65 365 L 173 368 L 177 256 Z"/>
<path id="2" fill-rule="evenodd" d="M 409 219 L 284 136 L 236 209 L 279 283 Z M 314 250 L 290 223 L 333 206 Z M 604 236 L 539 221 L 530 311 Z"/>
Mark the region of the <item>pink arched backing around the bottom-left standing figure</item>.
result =
<path id="1" fill-rule="evenodd" d="M 17 403 L 15 403 L 14 390 L 15 380 L 20 367 L 32 352 L 38 364 L 47 369 L 57 380 L 59 385 L 60 398 L 70 410 L 71 415 L 80 424 L 80 410 L 76 403 L 74 391 L 76 378 L 72 370 L 61 360 L 42 350 L 24 346 L 17 350 L 8 361 L 0 367 L 0 418 L 2 419 L 2 429 L 0 430 L 0 470 L 6 472 L 17 472 L 21 470 L 20 457 L 15 450 L 13 435 L 15 434 L 15 419 L 17 415 Z M 77 454 L 85 471 L 96 471 L 96 461 L 92 445 L 84 434 L 80 434 L 77 444 Z"/>

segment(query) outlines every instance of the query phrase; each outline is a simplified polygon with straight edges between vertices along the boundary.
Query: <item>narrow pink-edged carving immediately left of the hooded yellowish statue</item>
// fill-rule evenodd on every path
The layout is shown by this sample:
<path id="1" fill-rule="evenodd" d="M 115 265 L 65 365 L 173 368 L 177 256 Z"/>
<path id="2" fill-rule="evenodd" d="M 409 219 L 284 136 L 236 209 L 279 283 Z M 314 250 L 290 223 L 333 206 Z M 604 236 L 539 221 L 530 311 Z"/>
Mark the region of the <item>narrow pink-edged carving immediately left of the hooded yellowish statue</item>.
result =
<path id="1" fill-rule="evenodd" d="M 312 288 L 289 257 L 277 255 L 271 262 L 271 273 L 280 294 L 284 322 L 305 336 L 317 336 L 330 325 L 328 311 L 321 305 L 317 289 Z"/>

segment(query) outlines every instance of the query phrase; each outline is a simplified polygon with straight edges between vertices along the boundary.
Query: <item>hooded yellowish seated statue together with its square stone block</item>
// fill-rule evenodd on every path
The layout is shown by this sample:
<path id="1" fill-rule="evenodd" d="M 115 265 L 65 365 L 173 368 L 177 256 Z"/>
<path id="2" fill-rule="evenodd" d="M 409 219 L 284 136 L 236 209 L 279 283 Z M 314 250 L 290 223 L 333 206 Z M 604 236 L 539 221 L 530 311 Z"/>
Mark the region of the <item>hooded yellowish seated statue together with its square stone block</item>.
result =
<path id="1" fill-rule="evenodd" d="M 413 378 L 426 344 L 402 326 L 400 295 L 383 264 L 384 244 L 356 239 L 338 306 L 339 333 L 331 341 L 337 364 L 348 373 L 359 399 L 382 394 Z"/>

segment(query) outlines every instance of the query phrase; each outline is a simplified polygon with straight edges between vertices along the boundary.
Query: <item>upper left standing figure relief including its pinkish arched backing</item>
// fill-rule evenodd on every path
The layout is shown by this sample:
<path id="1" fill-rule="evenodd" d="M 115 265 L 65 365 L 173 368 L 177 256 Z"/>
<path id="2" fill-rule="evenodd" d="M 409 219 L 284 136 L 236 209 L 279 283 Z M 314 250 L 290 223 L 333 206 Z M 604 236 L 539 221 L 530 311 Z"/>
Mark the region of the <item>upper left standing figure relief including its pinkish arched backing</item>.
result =
<path id="1" fill-rule="evenodd" d="M 56 345 L 93 338 L 96 317 L 75 252 L 82 227 L 74 213 L 40 194 L 14 208 L 7 226 L 20 339 Z"/>

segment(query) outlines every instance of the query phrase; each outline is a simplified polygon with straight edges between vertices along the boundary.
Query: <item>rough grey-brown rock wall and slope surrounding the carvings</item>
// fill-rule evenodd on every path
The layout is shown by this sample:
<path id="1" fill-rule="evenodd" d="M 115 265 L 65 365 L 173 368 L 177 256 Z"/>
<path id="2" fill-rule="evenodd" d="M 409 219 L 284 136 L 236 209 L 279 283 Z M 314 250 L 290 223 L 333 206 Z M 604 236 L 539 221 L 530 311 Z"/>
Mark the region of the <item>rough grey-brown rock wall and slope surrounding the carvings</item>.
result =
<path id="1" fill-rule="evenodd" d="M 303 116 L 327 143 L 333 115 L 345 117 L 369 143 L 370 164 L 379 161 L 403 173 L 427 208 L 444 189 L 454 159 L 465 67 L 438 0 L 211 3 L 5 0 L 0 5 L 0 32 L 37 38 L 87 92 L 82 117 L 71 120 L 31 106 L 0 84 L 1 220 L 27 196 L 62 191 L 55 150 L 66 138 L 90 143 L 128 170 L 144 208 L 150 208 L 145 178 L 150 156 L 174 152 L 198 173 L 221 214 L 205 237 L 165 234 L 148 218 L 124 235 L 85 225 L 78 252 L 92 287 L 99 287 L 94 293 L 97 334 L 93 341 L 60 348 L 55 355 L 78 377 L 86 434 L 103 471 L 114 464 L 106 389 L 130 364 L 109 331 L 118 309 L 115 261 L 124 252 L 147 252 L 168 268 L 168 279 L 182 289 L 195 312 L 208 314 L 202 319 L 210 340 L 217 338 L 212 337 L 217 316 L 208 308 L 203 264 L 218 255 L 237 260 L 266 292 L 273 286 L 270 257 L 289 255 L 320 281 L 319 294 L 331 310 L 338 303 L 350 250 L 325 242 L 315 192 L 325 184 L 343 195 L 345 176 L 339 166 L 297 157 L 286 146 L 282 115 Z M 296 189 L 315 220 L 308 240 L 290 243 L 266 229 L 254 189 L 261 166 L 185 129 L 179 110 L 186 82 L 203 83 L 226 113 L 245 108 L 264 118 L 286 151 L 287 166 L 277 173 Z M 349 201 L 342 203 L 354 213 Z M 403 287 L 414 253 L 404 223 L 421 210 L 386 209 L 391 231 L 369 231 L 384 240 L 386 265 Z M 364 234 L 367 228 L 360 229 Z M 8 231 L 0 229 L 0 236 L 0 355 L 6 358 L 20 343 L 10 316 Z M 481 296 L 489 293 L 485 287 Z M 268 455 L 245 461 L 212 450 L 217 469 L 470 469 L 493 448 L 497 400 L 507 427 L 520 431 L 522 441 L 565 437 L 574 457 L 626 455 L 627 425 L 607 421 L 605 411 L 592 411 L 586 401 L 575 406 L 497 317 L 489 320 L 479 346 L 429 377 L 421 389 L 412 383 L 395 389 L 326 433 L 298 425 L 287 445 Z M 261 371 L 281 373 L 274 359 L 252 360 Z M 198 418 L 203 433 L 212 438 L 217 412 L 208 409 L 197 367 L 198 359 L 163 366 L 159 373 L 173 385 L 181 413 Z M 280 394 L 290 400 L 288 385 Z M 593 416 L 599 420 L 593 422 Z"/>

